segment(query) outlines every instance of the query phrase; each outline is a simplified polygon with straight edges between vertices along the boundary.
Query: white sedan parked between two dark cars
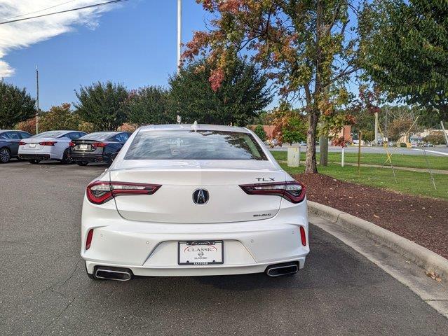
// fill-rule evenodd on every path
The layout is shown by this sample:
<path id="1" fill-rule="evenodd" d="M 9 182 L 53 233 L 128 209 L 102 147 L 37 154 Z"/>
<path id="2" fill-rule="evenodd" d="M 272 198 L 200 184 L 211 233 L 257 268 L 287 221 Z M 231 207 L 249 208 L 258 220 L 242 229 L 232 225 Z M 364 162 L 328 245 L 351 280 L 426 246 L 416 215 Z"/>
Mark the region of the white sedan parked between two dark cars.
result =
<path id="1" fill-rule="evenodd" d="M 20 141 L 19 158 L 31 163 L 41 160 L 59 160 L 69 163 L 69 143 L 86 132 L 79 131 L 48 131 L 36 134 Z"/>

